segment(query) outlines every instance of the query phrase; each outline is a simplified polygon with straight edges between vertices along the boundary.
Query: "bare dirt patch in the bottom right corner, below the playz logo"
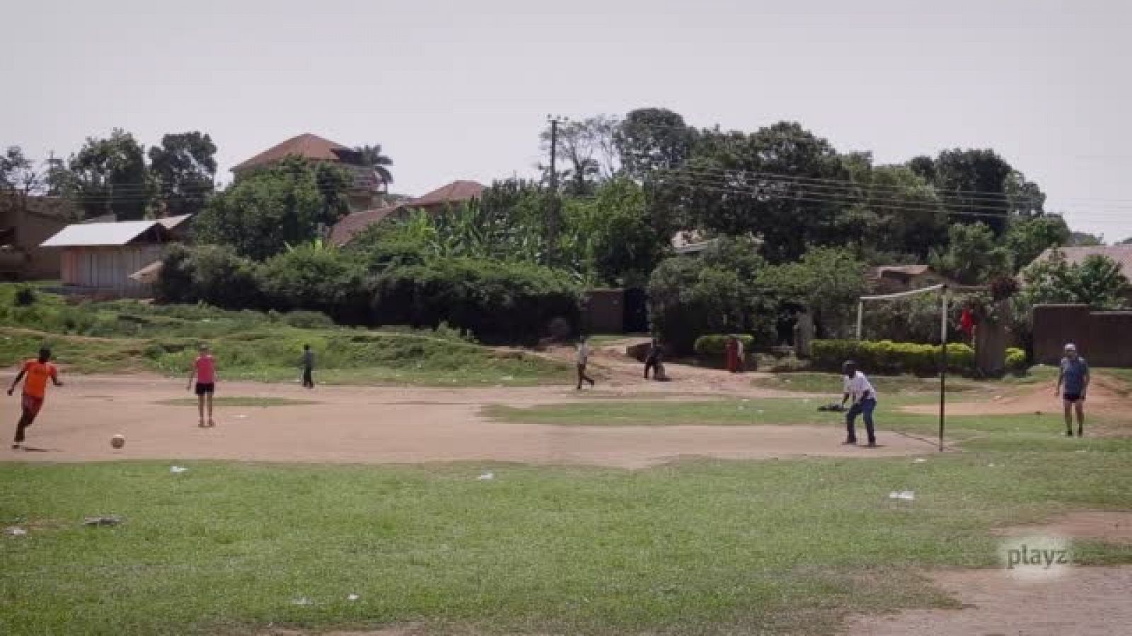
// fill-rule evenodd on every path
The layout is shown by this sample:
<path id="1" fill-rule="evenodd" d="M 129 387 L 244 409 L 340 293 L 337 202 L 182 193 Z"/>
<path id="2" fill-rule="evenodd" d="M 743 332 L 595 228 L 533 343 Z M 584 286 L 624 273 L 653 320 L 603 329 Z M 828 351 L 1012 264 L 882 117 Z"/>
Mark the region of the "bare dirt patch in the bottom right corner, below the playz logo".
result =
<path id="1" fill-rule="evenodd" d="M 1132 568 L 1069 568 L 1057 577 L 1012 578 L 1003 569 L 929 576 L 963 603 L 957 610 L 855 616 L 846 634 L 871 636 L 1110 636 L 1132 625 Z"/>

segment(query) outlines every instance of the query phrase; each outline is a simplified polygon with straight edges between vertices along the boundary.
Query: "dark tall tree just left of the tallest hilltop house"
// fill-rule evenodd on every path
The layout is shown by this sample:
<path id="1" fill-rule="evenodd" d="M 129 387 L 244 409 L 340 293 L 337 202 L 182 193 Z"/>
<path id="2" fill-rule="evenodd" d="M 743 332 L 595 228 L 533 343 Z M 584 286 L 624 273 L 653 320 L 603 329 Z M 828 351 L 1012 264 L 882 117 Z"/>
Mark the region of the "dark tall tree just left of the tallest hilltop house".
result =
<path id="1" fill-rule="evenodd" d="M 198 131 L 165 135 L 149 148 L 149 170 L 170 216 L 197 214 L 214 190 L 216 145 Z"/>

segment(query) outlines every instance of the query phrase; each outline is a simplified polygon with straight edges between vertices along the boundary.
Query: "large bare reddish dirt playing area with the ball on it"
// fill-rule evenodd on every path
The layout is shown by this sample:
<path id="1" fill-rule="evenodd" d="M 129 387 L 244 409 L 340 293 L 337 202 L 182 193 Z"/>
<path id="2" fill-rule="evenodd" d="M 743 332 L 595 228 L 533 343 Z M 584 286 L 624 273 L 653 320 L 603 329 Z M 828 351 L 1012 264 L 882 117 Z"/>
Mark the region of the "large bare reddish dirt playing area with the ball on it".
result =
<path id="1" fill-rule="evenodd" d="M 578 397 L 572 387 L 319 387 L 306 392 L 290 384 L 222 383 L 217 388 L 218 396 L 264 402 L 317 399 L 319 404 L 226 406 L 216 411 L 215 428 L 201 429 L 195 409 L 155 404 L 185 396 L 181 380 L 74 376 L 66 387 L 51 392 L 40 419 L 28 429 L 27 444 L 36 452 L 5 448 L 0 461 L 516 462 L 642 469 L 687 456 L 891 457 L 932 449 L 898 435 L 882 437 L 882 448 L 846 447 L 835 423 L 555 427 L 498 422 L 481 414 L 490 404 L 523 406 L 592 398 L 589 390 L 585 398 Z M 597 393 L 651 395 L 641 386 L 599 386 Z M 113 402 L 103 406 L 84 395 L 111 396 Z M 747 395 L 754 396 L 754 392 Z M 17 401 L 5 401 L 0 419 L 14 421 L 17 409 Z M 113 435 L 125 436 L 123 448 L 110 446 Z"/>

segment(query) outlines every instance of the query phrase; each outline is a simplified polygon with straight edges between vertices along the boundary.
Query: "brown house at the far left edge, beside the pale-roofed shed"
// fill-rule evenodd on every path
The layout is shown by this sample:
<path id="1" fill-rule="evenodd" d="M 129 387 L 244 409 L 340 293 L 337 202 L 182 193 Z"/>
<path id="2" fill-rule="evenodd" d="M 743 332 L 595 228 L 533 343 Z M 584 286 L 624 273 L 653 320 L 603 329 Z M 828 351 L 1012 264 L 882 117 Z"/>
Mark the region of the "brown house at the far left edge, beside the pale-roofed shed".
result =
<path id="1" fill-rule="evenodd" d="M 0 278 L 59 277 L 59 257 L 40 247 L 78 216 L 61 197 L 0 196 Z"/>

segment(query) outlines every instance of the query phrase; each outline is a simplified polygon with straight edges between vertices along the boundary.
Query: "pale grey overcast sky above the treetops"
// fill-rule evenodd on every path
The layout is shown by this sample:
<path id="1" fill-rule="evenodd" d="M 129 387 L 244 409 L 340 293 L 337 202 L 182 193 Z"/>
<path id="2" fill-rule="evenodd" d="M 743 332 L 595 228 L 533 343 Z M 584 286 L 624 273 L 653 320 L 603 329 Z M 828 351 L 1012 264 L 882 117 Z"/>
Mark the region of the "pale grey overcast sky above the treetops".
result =
<path id="1" fill-rule="evenodd" d="M 226 173 L 314 132 L 380 143 L 393 189 L 420 195 L 531 173 L 548 113 L 666 106 L 796 120 L 878 162 L 992 147 L 1075 230 L 1132 235 L 1123 0 L 0 5 L 0 146 L 36 158 L 114 127 L 201 130 Z"/>

